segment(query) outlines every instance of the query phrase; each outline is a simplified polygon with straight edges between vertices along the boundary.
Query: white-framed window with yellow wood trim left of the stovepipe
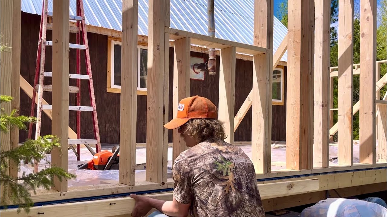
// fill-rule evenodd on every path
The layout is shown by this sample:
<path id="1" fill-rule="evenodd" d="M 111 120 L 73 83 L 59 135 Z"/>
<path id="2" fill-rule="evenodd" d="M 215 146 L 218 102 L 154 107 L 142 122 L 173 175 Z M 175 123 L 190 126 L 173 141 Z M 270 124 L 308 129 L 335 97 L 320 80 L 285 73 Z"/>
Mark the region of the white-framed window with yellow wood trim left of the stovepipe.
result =
<path id="1" fill-rule="evenodd" d="M 108 89 L 121 89 L 121 42 L 110 41 L 110 83 L 108 83 Z M 147 90 L 147 46 L 137 45 L 137 90 L 146 92 Z M 108 68 L 109 70 L 109 68 Z M 110 88 L 109 88 L 110 86 Z M 112 91 L 116 92 L 116 91 Z"/>

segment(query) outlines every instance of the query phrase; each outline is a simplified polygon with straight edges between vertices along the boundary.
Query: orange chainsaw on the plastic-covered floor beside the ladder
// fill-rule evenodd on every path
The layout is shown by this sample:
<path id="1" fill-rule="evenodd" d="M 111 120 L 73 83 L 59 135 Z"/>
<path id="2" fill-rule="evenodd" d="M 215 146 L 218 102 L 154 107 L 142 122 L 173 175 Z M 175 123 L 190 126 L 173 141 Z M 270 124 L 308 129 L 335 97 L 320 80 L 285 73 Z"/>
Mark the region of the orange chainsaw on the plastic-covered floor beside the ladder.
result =
<path id="1" fill-rule="evenodd" d="M 118 170 L 120 165 L 120 146 L 116 145 L 111 151 L 103 150 L 84 164 L 79 164 L 77 170 Z"/>

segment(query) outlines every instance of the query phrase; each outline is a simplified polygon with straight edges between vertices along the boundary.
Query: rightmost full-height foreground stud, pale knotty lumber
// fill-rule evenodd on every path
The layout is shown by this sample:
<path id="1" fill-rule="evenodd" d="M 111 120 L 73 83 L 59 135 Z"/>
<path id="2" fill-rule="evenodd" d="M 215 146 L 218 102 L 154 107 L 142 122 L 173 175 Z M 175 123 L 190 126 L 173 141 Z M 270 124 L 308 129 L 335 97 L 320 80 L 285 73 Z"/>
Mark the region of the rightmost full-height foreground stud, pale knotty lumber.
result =
<path id="1" fill-rule="evenodd" d="M 360 1 L 360 73 L 359 141 L 360 163 L 376 163 L 376 10 L 377 0 Z"/>

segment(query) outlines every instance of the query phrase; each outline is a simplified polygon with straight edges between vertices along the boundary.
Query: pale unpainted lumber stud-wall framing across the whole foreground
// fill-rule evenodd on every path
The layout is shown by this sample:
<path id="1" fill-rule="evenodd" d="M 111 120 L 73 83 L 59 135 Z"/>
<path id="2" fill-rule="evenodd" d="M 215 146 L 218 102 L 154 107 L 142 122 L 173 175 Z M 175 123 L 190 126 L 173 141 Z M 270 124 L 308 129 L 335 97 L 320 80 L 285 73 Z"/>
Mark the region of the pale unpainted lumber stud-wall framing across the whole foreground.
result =
<path id="1" fill-rule="evenodd" d="M 3 1 L 5 2 L 5 1 Z M 2 10 L 3 10 L 2 2 Z M 4 3 L 5 4 L 5 3 Z M 63 5 L 62 5 L 63 4 Z M 253 110 L 253 125 L 252 125 L 252 161 L 255 166 L 257 179 L 260 178 L 279 178 L 294 175 L 307 175 L 308 178 L 299 177 L 295 178 L 295 185 L 298 186 L 298 191 L 293 193 L 284 192 L 271 192 L 271 189 L 283 188 L 288 185 L 288 181 L 292 180 L 276 180 L 272 185 L 262 185 L 262 192 L 271 192 L 265 197 L 276 198 L 290 195 L 297 195 L 304 193 L 307 189 L 302 187 L 312 187 L 318 182 L 319 189 L 309 189 L 310 191 L 329 190 L 334 188 L 344 188 L 352 186 L 360 186 L 365 184 L 374 184 L 385 182 L 387 163 L 383 161 L 385 156 L 385 148 L 375 148 L 375 115 L 378 118 L 385 117 L 385 97 L 384 100 L 375 99 L 376 92 L 386 84 L 386 75 L 380 80 L 376 80 L 375 70 L 375 32 L 372 29 L 367 29 L 364 25 L 375 24 L 375 0 L 363 0 L 361 4 L 361 10 L 365 10 L 361 16 L 367 17 L 369 20 L 361 22 L 363 28 L 361 32 L 364 33 L 364 38 L 361 39 L 361 64 L 365 64 L 365 68 L 372 68 L 373 70 L 359 72 L 362 81 L 367 81 L 361 86 L 361 101 L 352 106 L 352 75 L 354 74 L 352 58 L 353 55 L 351 21 L 353 14 L 353 0 L 339 0 L 339 66 L 337 76 L 339 76 L 339 104 L 338 110 L 341 116 L 338 122 L 339 135 L 339 164 L 337 166 L 329 165 L 327 161 L 327 147 L 329 146 L 327 131 L 328 131 L 328 108 L 325 106 L 325 102 L 329 101 L 329 92 L 327 90 L 329 86 L 329 78 L 332 77 L 334 72 L 328 71 L 327 66 L 327 46 L 329 39 L 327 39 L 329 28 L 327 23 L 330 19 L 327 15 L 328 3 L 321 0 L 316 0 L 316 7 L 314 4 L 308 1 L 301 0 L 289 0 L 289 31 L 284 41 L 281 43 L 277 52 L 273 55 L 272 51 L 272 25 L 273 25 L 273 1 L 272 0 L 255 0 L 255 15 L 254 15 L 254 45 L 242 44 L 233 41 L 227 41 L 216 37 L 210 37 L 192 32 L 181 31 L 170 27 L 170 0 L 149 0 L 149 37 L 147 38 L 148 46 L 148 91 L 147 91 L 147 156 L 146 156 L 146 181 L 135 180 L 135 141 L 133 135 L 135 135 L 135 108 L 129 106 L 130 103 L 136 102 L 137 95 L 137 0 L 123 0 L 123 32 L 120 35 L 122 37 L 122 58 L 133 59 L 134 63 L 126 62 L 122 64 L 122 84 L 121 88 L 121 117 L 125 117 L 120 122 L 121 137 L 121 162 L 125 166 L 120 166 L 120 183 L 106 184 L 98 186 L 85 186 L 80 188 L 67 188 L 67 181 L 56 181 L 56 187 L 53 187 L 50 191 L 39 190 L 38 195 L 34 195 L 34 202 L 53 201 L 58 199 L 71 199 L 82 198 L 91 196 L 101 196 L 117 193 L 139 192 L 146 190 L 161 190 L 173 187 L 173 180 L 167 179 L 166 176 L 166 156 L 168 142 L 168 131 L 163 128 L 163 125 L 168 121 L 168 83 L 171 82 L 168 76 L 169 70 L 169 46 L 170 40 L 174 41 L 175 53 L 174 53 L 174 105 L 181 98 L 186 97 L 189 88 L 183 87 L 183 84 L 187 84 L 187 78 L 189 78 L 189 53 L 191 50 L 190 44 L 196 44 L 199 46 L 211 45 L 220 50 L 221 56 L 221 79 L 219 82 L 219 98 L 222 103 L 219 105 L 222 107 L 219 109 L 219 118 L 225 122 L 226 132 L 229 135 L 228 142 L 233 142 L 233 132 L 238 127 L 240 120 L 243 119 L 246 111 L 252 107 Z M 16 4 L 15 4 L 16 5 Z M 15 6 L 16 7 L 16 6 Z M 5 7 L 4 7 L 5 8 Z M 10 6 L 8 5 L 8 8 Z M 70 30 L 68 23 L 68 0 L 63 2 L 56 2 L 54 9 L 60 13 L 55 14 L 54 23 L 52 24 L 53 38 L 57 38 L 60 46 L 54 46 L 53 50 L 58 50 L 58 54 L 53 58 L 57 58 L 57 68 L 54 68 L 58 72 L 58 76 L 53 77 L 53 82 L 58 85 L 57 89 L 53 89 L 53 93 L 57 98 L 53 100 L 53 112 L 52 118 L 56 119 L 56 125 L 53 125 L 53 133 L 60 137 L 71 136 L 68 131 L 68 115 L 64 111 L 68 111 L 68 34 Z M 343 9 L 344 8 L 344 9 Z M 315 12 L 314 12 L 315 11 Z M 308 12 L 308 13 L 303 13 Z M 5 14 L 7 17 L 11 17 L 9 14 Z M 14 21 L 7 22 L 17 24 L 19 15 L 15 13 Z M 315 21 L 315 26 L 312 24 Z M 341 21 L 340 21 L 341 20 Z M 348 21 L 349 20 L 349 21 Z M 364 19 L 363 19 L 364 20 Z M 346 25 L 343 25 L 346 23 Z M 9 28 L 3 23 L 2 13 L 2 29 Z M 313 36 L 313 28 L 315 28 L 315 37 Z M 18 31 L 15 29 L 13 36 L 17 39 Z M 20 34 L 19 34 L 20 35 Z M 329 37 L 328 37 L 329 38 Z M 55 39 L 54 39 L 55 40 Z M 311 43 L 315 41 L 315 43 Z M 322 44 L 323 47 L 313 47 L 311 44 Z M 16 46 L 17 47 L 17 46 Z M 367 49 L 370 48 L 370 49 Z M 286 155 L 286 170 L 272 171 L 271 170 L 271 96 L 272 96 L 272 71 L 273 68 L 279 63 L 279 59 L 283 56 L 284 52 L 288 49 L 289 56 L 289 68 L 288 68 L 288 110 L 287 110 L 287 155 Z M 56 52 L 53 52 L 56 53 Z M 253 60 L 253 88 L 249 97 L 245 100 L 242 107 L 236 115 L 234 114 L 234 93 L 235 93 L 235 59 L 238 53 L 248 54 L 252 56 Z M 321 56 L 320 60 L 316 60 L 314 71 L 312 69 L 313 54 Z M 3 54 L 2 54 L 3 55 Z M 67 55 L 67 56 L 66 56 Z M 368 59 L 366 57 L 372 56 Z M 18 53 L 8 56 L 7 63 L 15 61 L 13 64 L 17 65 L 20 60 Z M 15 59 L 13 59 L 15 57 Z M 11 62 L 9 62 L 11 61 Z M 124 63 L 124 62 L 123 62 Z M 10 65 L 7 65 L 10 68 Z M 14 76 L 14 73 L 18 73 L 18 67 L 12 66 L 12 76 L 10 74 L 3 73 L 2 66 L 2 94 L 6 93 L 5 89 L 10 90 L 10 86 L 4 84 L 11 80 L 12 85 L 19 85 L 17 82 L 19 76 Z M 133 73 L 136 71 L 135 73 Z M 330 75 L 329 75 L 330 74 Z M 15 74 L 16 75 L 16 74 Z M 17 77 L 17 79 L 16 79 Z M 15 79 L 14 79 L 15 78 Z M 315 83 L 314 83 L 314 82 Z M 349 84 L 348 85 L 348 81 Z M 312 84 L 313 82 L 313 84 Z M 22 84 L 22 83 L 21 83 Z M 321 87 L 320 87 L 321 85 Z M 319 116 L 319 121 L 311 127 L 311 120 L 313 120 L 313 104 L 312 96 L 313 88 L 315 91 L 315 101 L 317 106 L 324 105 L 324 109 L 315 109 L 315 115 Z M 317 93 L 318 91 L 319 93 Z M 7 93 L 8 93 L 7 92 Z M 303 96 L 301 93 L 307 92 L 308 95 Z M 330 103 L 328 103 L 330 104 Z M 360 107 L 361 105 L 361 107 Z M 378 105 L 378 106 L 376 106 Z M 381 105 L 381 106 L 379 106 Z M 356 107 L 357 106 L 357 107 Z M 17 107 L 17 104 L 15 104 Z M 66 108 L 66 109 L 65 109 Z M 352 163 L 352 117 L 353 112 L 357 112 L 362 108 L 361 115 L 364 117 L 360 120 L 361 126 L 367 126 L 361 128 L 361 163 Z M 378 112 L 376 112 L 378 108 Z M 175 108 L 174 108 L 175 109 Z M 363 110 L 365 109 L 365 110 Z M 56 114 L 56 115 L 54 115 Z M 174 113 L 175 114 L 175 113 Z M 385 134 L 385 122 L 382 122 L 382 128 L 380 132 Z M 369 127 L 368 127 L 369 126 Z M 333 127 L 332 127 L 333 128 Z M 329 135 L 331 135 L 332 128 L 329 129 Z M 365 129 L 367 128 L 367 129 Z M 313 130 L 312 130 L 313 129 Z M 370 130 L 371 129 L 371 130 Z M 324 133 L 316 134 L 316 132 L 324 130 Z M 334 130 L 334 129 L 333 129 Z M 314 133 L 314 135 L 312 135 Z M 382 134 L 380 133 L 380 134 Z M 174 132 L 174 138 L 176 132 Z M 315 144 L 310 142 L 314 138 Z M 366 138 L 366 139 L 364 139 Z M 3 137 L 2 137 L 3 139 Z M 383 138 L 382 138 L 383 139 Z M 379 139 L 379 141 L 383 141 Z M 313 141 L 313 140 L 312 140 Z M 371 141 L 371 142 L 370 142 Z M 385 137 L 384 137 L 385 141 Z M 3 143 L 6 144 L 8 141 Z M 62 141 L 63 142 L 63 141 Z M 385 147 L 385 144 L 384 146 Z M 3 148 L 3 147 L 2 147 Z M 9 147 L 8 147 L 9 148 Z M 313 167 L 313 154 L 311 152 L 315 148 L 314 159 L 315 166 Z M 186 149 L 181 141 L 173 142 L 174 158 L 183 150 Z M 67 170 L 67 150 L 56 149 L 53 151 L 52 161 Z M 378 157 L 379 162 L 376 162 L 375 156 Z M 382 158 L 382 159 L 381 159 Z M 385 159 L 385 157 L 384 157 Z M 354 170 L 354 171 L 352 171 Z M 356 171 L 362 170 L 362 171 Z M 346 171 L 346 172 L 344 172 Z M 327 173 L 329 175 L 313 175 L 314 173 Z M 376 177 L 371 179 L 371 175 Z M 298 180 L 296 180 L 298 179 Z M 313 179 L 317 179 L 313 180 Z M 273 184 L 277 183 L 277 184 Z M 264 187 L 270 186 L 270 187 Z M 66 193 L 62 193 L 66 192 Z M 286 191 L 285 191 L 286 192 Z M 171 193 L 157 194 L 158 198 L 170 198 Z M 108 206 L 106 202 L 116 202 L 117 206 Z M 109 214 L 128 214 L 132 209 L 133 200 L 124 197 L 119 199 L 106 199 L 98 202 L 85 202 L 86 204 L 92 204 L 87 210 L 88 214 L 96 214 L 103 216 L 104 213 L 100 212 L 101 207 L 106 210 L 115 210 Z M 125 209 L 117 209 L 122 207 L 122 204 L 132 204 Z M 79 204 L 79 203 L 78 203 Z M 82 203 L 83 205 L 83 203 Z M 62 208 L 69 206 L 69 204 L 61 205 Z M 92 209 L 98 207 L 98 209 Z M 111 207 L 111 208 L 110 208 Z M 77 208 L 77 207 L 76 207 Z M 51 212 L 49 206 L 34 208 L 34 210 L 47 210 Z M 78 209 L 78 208 L 77 208 Z M 75 210 L 77 210 L 75 209 Z M 70 209 L 67 209 L 70 210 Z M 117 211 L 122 210 L 122 211 Z M 3 212 L 2 215 L 8 215 L 14 212 L 13 210 Z M 57 212 L 57 211 L 56 211 Z M 68 215 L 72 211 L 63 212 L 63 215 Z M 124 212 L 124 213 L 121 213 Z M 79 214 L 79 213 L 77 213 Z M 86 215 L 85 215 L 86 216 Z"/>

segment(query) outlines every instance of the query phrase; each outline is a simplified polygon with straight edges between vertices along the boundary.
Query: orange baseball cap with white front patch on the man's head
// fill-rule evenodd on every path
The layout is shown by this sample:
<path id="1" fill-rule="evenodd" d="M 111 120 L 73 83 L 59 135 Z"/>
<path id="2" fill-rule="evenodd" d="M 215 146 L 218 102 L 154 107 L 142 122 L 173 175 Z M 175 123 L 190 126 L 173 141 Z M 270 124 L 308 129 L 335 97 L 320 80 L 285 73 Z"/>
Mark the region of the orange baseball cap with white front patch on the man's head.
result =
<path id="1" fill-rule="evenodd" d="M 217 119 L 217 108 L 214 103 L 198 95 L 183 98 L 177 105 L 176 117 L 164 127 L 173 130 L 187 123 L 188 120 L 196 118 Z"/>

